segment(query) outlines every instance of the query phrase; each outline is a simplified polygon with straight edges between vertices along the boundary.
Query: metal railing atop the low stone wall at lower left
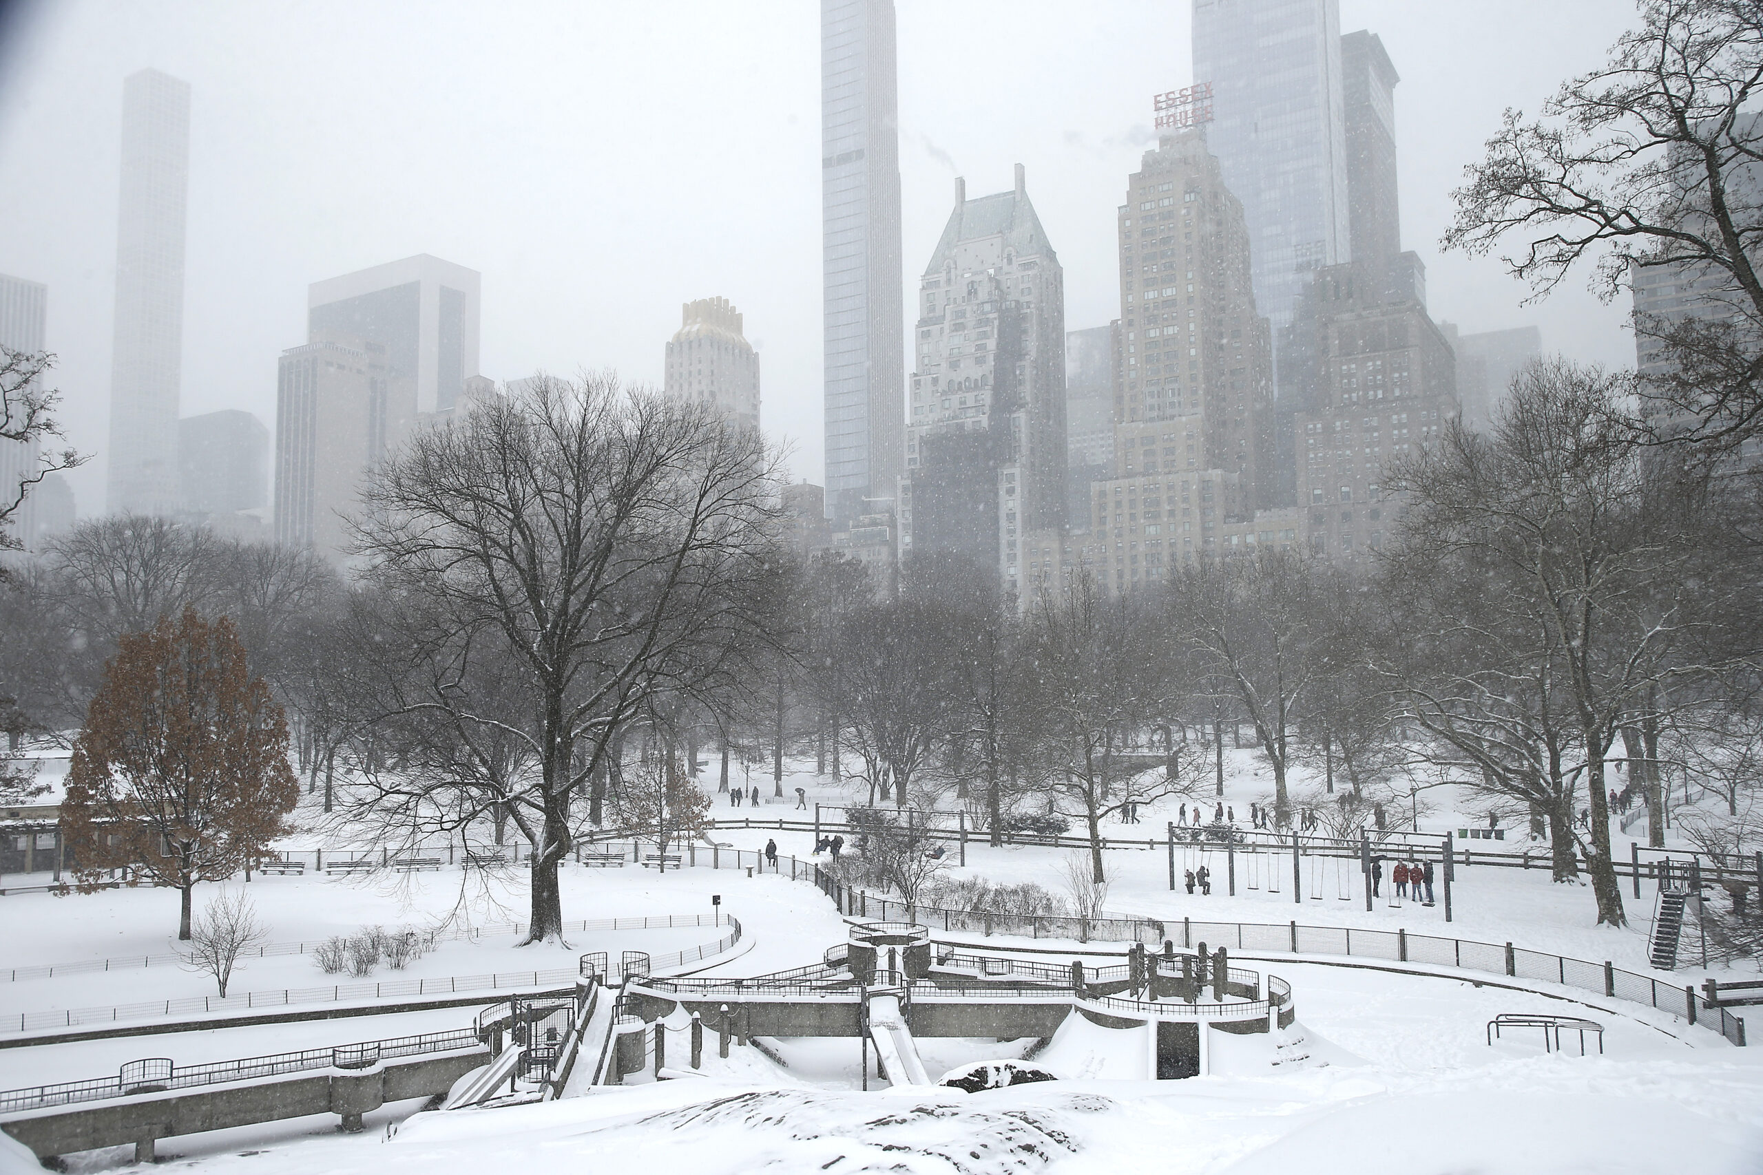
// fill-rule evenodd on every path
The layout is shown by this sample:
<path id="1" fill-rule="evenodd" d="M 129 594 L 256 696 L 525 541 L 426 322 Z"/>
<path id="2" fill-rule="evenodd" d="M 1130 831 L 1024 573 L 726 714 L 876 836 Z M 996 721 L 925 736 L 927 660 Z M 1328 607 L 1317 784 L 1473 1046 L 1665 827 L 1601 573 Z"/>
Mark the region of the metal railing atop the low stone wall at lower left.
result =
<path id="1" fill-rule="evenodd" d="M 145 1060 L 130 1060 L 122 1066 L 122 1069 L 116 1071 L 116 1076 L 100 1076 L 85 1082 L 60 1082 L 56 1085 L 32 1085 L 28 1089 L 9 1089 L 0 1092 L 0 1113 L 41 1110 L 44 1106 L 65 1106 L 79 1101 L 102 1101 L 104 1097 L 122 1097 L 125 1094 L 157 1094 L 167 1089 L 220 1085 L 222 1082 L 247 1082 L 307 1069 L 360 1069 L 379 1060 L 391 1060 L 395 1057 L 416 1057 L 423 1053 L 478 1046 L 478 1032 L 474 1029 L 455 1029 L 451 1032 L 395 1036 L 379 1041 L 333 1045 L 330 1048 L 303 1048 L 291 1053 L 245 1057 L 242 1060 L 212 1060 L 208 1064 L 190 1066 L 173 1064 L 164 1057 L 148 1057 Z"/>

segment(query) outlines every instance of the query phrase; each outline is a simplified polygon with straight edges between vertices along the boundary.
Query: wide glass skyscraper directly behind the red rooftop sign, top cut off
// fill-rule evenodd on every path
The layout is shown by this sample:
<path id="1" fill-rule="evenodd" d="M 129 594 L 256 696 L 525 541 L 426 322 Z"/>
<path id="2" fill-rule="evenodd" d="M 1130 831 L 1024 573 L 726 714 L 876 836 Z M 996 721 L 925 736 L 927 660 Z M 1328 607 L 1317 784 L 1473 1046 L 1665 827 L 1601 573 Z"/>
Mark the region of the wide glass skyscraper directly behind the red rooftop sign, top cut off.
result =
<path id="1" fill-rule="evenodd" d="M 1194 0 L 1194 79 L 1278 338 L 1310 271 L 1350 255 L 1338 0 Z"/>

